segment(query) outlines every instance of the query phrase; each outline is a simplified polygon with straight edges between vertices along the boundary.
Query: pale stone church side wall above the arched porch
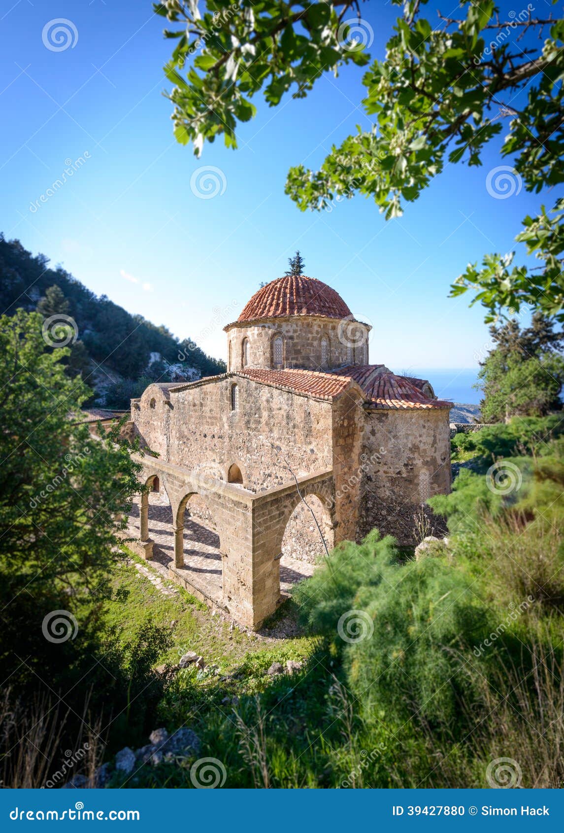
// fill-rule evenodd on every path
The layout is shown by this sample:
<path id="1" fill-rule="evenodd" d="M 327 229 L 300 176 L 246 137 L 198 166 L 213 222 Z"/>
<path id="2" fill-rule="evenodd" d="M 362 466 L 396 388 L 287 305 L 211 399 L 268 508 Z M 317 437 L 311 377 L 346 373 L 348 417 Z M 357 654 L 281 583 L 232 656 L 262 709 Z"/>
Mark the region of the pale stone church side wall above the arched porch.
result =
<path id="1" fill-rule="evenodd" d="M 236 411 L 230 402 L 234 383 L 239 389 Z M 258 491 L 289 481 L 282 456 L 298 476 L 331 467 L 330 402 L 226 377 L 179 392 L 150 385 L 138 407 L 131 417 L 141 441 L 188 471 L 226 481 L 231 464 L 237 463 L 243 486 Z"/>

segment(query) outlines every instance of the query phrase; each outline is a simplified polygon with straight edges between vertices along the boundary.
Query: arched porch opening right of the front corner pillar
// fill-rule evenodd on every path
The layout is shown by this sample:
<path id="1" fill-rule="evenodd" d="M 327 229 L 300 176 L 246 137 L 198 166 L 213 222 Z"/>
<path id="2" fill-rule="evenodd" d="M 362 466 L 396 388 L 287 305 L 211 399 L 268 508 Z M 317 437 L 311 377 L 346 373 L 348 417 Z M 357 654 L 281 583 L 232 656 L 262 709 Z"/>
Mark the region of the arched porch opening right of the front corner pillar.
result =
<path id="1" fill-rule="evenodd" d="M 329 552 L 334 547 L 334 529 L 329 510 L 317 495 L 305 496 L 305 503 L 307 506 L 304 501 L 297 502 L 284 528 L 280 557 L 280 591 L 283 593 L 311 576 L 325 555 L 317 524 Z"/>

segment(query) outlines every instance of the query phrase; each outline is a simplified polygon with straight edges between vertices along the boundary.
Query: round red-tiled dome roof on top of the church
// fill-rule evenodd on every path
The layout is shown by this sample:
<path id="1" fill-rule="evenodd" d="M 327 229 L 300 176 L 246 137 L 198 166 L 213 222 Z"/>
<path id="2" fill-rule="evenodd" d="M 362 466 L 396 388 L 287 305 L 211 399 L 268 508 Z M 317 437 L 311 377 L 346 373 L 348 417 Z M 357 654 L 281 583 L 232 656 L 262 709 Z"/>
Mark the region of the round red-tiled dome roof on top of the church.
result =
<path id="1" fill-rule="evenodd" d="M 339 292 L 323 281 L 304 275 L 286 275 L 255 292 L 237 322 L 294 315 L 346 318 L 352 313 Z"/>

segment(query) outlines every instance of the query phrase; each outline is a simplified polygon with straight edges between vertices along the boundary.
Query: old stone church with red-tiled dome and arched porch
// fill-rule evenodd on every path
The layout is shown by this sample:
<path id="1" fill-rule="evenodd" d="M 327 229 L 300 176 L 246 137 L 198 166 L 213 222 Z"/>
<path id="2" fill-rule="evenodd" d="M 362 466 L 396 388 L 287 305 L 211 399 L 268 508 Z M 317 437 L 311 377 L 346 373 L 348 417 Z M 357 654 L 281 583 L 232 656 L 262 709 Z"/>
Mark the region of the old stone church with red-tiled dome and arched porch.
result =
<path id="1" fill-rule="evenodd" d="M 450 489 L 451 403 L 370 364 L 370 330 L 327 284 L 280 277 L 225 327 L 226 373 L 131 402 L 150 450 L 138 551 L 160 536 L 170 576 L 245 626 L 284 598 L 281 571 L 309 575 L 324 545 L 374 527 L 410 545 L 424 501 Z"/>

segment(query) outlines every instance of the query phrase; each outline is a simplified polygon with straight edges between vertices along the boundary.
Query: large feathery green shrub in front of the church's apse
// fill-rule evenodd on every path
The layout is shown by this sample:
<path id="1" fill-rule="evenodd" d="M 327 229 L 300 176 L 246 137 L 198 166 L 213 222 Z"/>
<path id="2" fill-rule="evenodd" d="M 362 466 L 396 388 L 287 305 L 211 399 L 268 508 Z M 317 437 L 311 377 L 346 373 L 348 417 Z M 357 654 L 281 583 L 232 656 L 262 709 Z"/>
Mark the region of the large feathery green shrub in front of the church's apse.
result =
<path id="1" fill-rule="evenodd" d="M 344 654 L 363 716 L 383 711 L 395 724 L 419 714 L 447 725 L 474 696 L 465 663 L 489 630 L 471 581 L 442 559 L 400 566 L 393 541 L 373 531 L 334 551 L 298 594 L 307 626 Z M 339 635 L 343 617 L 358 630 L 340 624 Z"/>

